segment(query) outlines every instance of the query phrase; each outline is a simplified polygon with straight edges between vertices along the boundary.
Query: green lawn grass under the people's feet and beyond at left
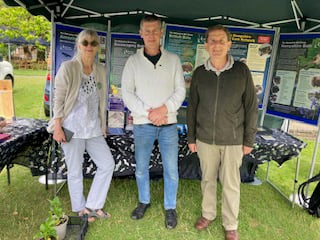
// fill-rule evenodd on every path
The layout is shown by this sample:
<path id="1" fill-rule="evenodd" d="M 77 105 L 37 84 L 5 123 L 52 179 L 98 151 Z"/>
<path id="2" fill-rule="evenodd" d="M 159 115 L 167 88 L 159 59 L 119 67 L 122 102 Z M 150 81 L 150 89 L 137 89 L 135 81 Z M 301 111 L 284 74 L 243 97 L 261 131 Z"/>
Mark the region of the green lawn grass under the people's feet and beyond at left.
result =
<path id="1" fill-rule="evenodd" d="M 25 77 L 17 75 L 14 89 L 15 104 L 20 105 L 17 115 L 21 117 L 41 118 L 41 98 L 43 93 L 43 76 Z M 32 93 L 33 97 L 28 97 Z M 39 100 L 40 99 L 40 100 Z M 31 108 L 26 106 L 33 105 Z M 35 110 L 33 110 L 35 108 Z M 43 113 L 42 113 L 43 114 Z M 299 182 L 309 175 L 314 142 L 307 141 L 308 146 L 302 151 Z M 319 156 L 317 157 L 319 159 Z M 302 240 L 320 239 L 320 221 L 310 216 L 298 206 L 291 204 L 274 188 L 265 182 L 267 164 L 259 166 L 257 177 L 262 185 L 241 185 L 241 207 L 239 215 L 239 232 L 242 240 Z M 319 172 L 320 163 L 316 163 L 315 173 Z M 289 160 L 279 168 L 271 164 L 269 179 L 289 196 L 292 193 L 295 172 L 295 160 Z M 85 192 L 91 184 L 85 180 Z M 219 193 L 221 189 L 218 189 Z M 151 181 L 152 206 L 145 217 L 139 221 L 130 219 L 130 213 L 137 203 L 137 189 L 134 179 L 113 179 L 105 209 L 112 218 L 90 224 L 86 240 L 100 239 L 224 239 L 221 226 L 221 197 L 219 195 L 216 221 L 202 232 L 195 230 L 194 223 L 201 214 L 200 181 L 180 180 L 177 211 L 178 226 L 174 230 L 164 227 L 163 180 Z M 68 189 L 65 186 L 59 193 L 63 207 L 71 215 Z M 11 185 L 7 184 L 7 174 L 0 173 L 0 240 L 32 239 L 39 225 L 48 213 L 47 199 L 53 198 L 53 186 L 46 191 L 32 177 L 28 168 L 15 165 L 11 169 Z"/>

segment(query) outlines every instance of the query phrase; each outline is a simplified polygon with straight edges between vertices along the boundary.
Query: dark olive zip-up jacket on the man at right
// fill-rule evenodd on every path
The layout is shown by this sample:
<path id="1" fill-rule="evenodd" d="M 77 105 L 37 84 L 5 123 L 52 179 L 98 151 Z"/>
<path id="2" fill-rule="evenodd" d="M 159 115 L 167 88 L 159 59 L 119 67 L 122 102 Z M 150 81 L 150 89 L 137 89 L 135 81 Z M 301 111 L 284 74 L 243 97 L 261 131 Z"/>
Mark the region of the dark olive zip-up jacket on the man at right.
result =
<path id="1" fill-rule="evenodd" d="M 219 76 L 199 66 L 193 73 L 187 109 L 188 141 L 252 147 L 257 131 L 257 96 L 241 62 Z"/>

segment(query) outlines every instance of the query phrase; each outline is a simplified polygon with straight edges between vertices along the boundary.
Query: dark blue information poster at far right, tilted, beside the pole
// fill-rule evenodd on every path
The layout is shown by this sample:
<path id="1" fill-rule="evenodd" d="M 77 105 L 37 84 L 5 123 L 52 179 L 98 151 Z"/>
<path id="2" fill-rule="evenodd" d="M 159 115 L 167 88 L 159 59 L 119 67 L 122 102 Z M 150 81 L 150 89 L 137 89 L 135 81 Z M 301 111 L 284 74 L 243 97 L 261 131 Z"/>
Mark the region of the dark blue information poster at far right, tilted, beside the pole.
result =
<path id="1" fill-rule="evenodd" d="M 317 125 L 320 33 L 281 34 L 267 113 Z"/>

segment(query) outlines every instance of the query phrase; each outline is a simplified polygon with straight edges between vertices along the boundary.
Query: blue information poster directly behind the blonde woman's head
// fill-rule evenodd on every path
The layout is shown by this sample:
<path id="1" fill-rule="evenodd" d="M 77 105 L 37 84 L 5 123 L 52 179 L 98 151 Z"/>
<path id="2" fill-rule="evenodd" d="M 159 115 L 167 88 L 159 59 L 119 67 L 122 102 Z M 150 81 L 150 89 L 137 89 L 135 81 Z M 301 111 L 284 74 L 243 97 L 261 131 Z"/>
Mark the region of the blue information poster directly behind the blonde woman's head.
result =
<path id="1" fill-rule="evenodd" d="M 64 24 L 55 24 L 55 74 L 59 70 L 62 62 L 70 60 L 75 54 L 76 38 L 78 34 L 83 30 L 80 27 L 74 27 Z M 105 64 L 106 62 L 106 40 L 107 33 L 97 31 L 99 36 L 99 52 L 97 56 L 97 61 L 99 63 Z"/>

